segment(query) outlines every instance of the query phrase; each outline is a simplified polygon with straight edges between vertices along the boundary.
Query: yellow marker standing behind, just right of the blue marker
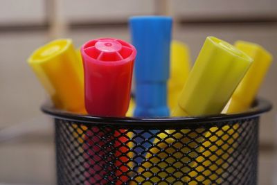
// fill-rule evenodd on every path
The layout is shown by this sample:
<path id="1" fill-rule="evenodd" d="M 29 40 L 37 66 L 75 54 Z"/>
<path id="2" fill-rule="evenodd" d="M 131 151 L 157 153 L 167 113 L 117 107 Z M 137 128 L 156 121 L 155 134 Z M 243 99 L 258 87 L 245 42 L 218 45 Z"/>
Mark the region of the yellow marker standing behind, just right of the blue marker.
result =
<path id="1" fill-rule="evenodd" d="M 170 78 L 168 80 L 168 107 L 172 110 L 177 105 L 181 89 L 190 72 L 190 53 L 188 46 L 179 41 L 172 41 L 170 47 Z"/>

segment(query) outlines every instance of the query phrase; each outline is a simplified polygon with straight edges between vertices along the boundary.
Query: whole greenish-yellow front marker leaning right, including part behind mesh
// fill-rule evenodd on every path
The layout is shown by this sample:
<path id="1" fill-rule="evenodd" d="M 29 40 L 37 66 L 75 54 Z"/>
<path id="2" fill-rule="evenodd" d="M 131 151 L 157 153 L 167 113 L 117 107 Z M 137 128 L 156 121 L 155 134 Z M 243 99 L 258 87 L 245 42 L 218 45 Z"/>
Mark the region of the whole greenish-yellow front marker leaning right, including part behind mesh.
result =
<path id="1" fill-rule="evenodd" d="M 178 105 L 172 116 L 220 114 L 247 69 L 249 69 L 251 62 L 252 59 L 249 56 L 235 49 L 231 44 L 216 37 L 207 37 L 181 91 Z M 201 131 L 202 129 L 197 130 L 197 132 Z M 189 177 L 182 177 L 188 167 L 195 167 L 195 162 L 190 161 L 188 157 L 195 157 L 196 153 L 190 152 L 189 148 L 196 148 L 196 150 L 201 151 L 201 144 L 198 145 L 197 142 L 203 141 L 204 138 L 195 139 L 195 142 L 190 143 L 190 138 L 197 136 L 195 132 L 190 132 L 190 130 L 181 130 L 182 134 L 178 134 L 175 130 L 167 130 L 166 132 L 167 134 L 159 134 L 154 141 L 157 147 L 164 148 L 166 151 L 161 152 L 159 148 L 150 149 L 150 152 L 156 154 L 157 157 L 148 153 L 149 161 L 145 161 L 142 164 L 143 167 L 139 168 L 139 173 L 142 175 L 135 178 L 137 182 L 143 182 L 145 178 L 149 178 L 152 182 L 159 182 L 161 178 L 165 178 L 168 182 L 176 182 L 175 177 L 181 178 L 179 184 L 190 181 Z M 182 138 L 186 134 L 189 137 Z M 181 143 L 176 143 L 175 138 L 180 139 Z M 165 139 L 165 141 L 159 143 L 159 139 Z M 172 144 L 172 147 L 168 147 L 169 144 Z M 181 152 L 178 152 L 176 148 L 181 148 Z M 187 165 L 178 164 L 174 158 L 168 157 L 166 153 L 180 159 L 182 163 Z M 188 155 L 184 156 L 181 153 L 188 153 Z M 161 159 L 166 159 L 166 162 L 161 161 Z M 167 173 L 173 175 L 165 176 L 166 173 L 151 163 L 157 164 L 159 168 L 166 168 Z M 175 166 L 176 169 L 169 168 L 169 166 Z M 151 173 L 144 171 L 143 168 L 149 168 Z M 153 175 L 153 173 L 156 173 L 156 175 Z M 189 173 L 188 175 L 193 177 L 194 174 Z"/>

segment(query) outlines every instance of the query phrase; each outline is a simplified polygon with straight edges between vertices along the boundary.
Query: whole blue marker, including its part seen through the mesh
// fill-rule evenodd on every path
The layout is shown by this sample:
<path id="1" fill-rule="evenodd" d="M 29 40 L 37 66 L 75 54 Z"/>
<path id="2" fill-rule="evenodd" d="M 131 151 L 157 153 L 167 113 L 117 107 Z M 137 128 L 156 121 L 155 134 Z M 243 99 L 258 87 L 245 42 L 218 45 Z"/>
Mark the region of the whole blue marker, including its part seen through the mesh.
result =
<path id="1" fill-rule="evenodd" d="M 138 16 L 129 19 L 132 44 L 136 47 L 135 62 L 135 96 L 136 117 L 169 116 L 167 106 L 167 81 L 170 67 L 170 42 L 172 18 L 165 16 Z M 136 133 L 141 130 L 135 130 Z M 153 133 L 157 133 L 153 132 Z M 143 134 L 145 138 L 149 133 Z M 153 141 L 134 139 L 134 151 L 143 157 L 134 160 L 140 166 Z"/>

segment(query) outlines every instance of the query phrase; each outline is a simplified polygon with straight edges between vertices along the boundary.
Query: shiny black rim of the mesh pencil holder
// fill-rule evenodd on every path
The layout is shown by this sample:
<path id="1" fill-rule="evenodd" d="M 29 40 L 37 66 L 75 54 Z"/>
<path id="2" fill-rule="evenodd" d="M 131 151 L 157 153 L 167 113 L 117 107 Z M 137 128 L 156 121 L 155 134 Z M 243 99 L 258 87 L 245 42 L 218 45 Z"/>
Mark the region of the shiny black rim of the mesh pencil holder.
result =
<path id="1" fill-rule="evenodd" d="M 168 126 L 168 124 L 192 125 L 197 123 L 218 123 L 224 121 L 238 121 L 247 118 L 254 118 L 260 114 L 269 112 L 272 108 L 271 103 L 264 98 L 257 98 L 253 107 L 246 112 L 236 114 L 218 114 L 210 116 L 193 116 L 193 117 L 155 117 L 155 118 L 137 118 L 137 117 L 100 117 L 87 114 L 73 114 L 64 110 L 56 109 L 49 103 L 44 103 L 41 107 L 42 112 L 52 116 L 53 118 L 63 119 L 66 121 L 75 121 L 91 124 L 109 124 L 109 125 L 143 125 L 143 126 Z"/>

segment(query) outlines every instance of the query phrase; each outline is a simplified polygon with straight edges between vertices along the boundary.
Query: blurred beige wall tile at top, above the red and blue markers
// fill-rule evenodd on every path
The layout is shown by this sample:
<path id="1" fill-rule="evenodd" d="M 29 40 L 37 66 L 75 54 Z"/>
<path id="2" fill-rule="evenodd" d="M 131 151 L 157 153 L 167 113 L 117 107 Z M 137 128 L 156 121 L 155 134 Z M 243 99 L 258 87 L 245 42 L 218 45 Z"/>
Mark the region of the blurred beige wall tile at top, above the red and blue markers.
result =
<path id="1" fill-rule="evenodd" d="M 64 16 L 71 22 L 125 21 L 132 15 L 151 15 L 155 13 L 153 0 L 62 0 Z"/>

